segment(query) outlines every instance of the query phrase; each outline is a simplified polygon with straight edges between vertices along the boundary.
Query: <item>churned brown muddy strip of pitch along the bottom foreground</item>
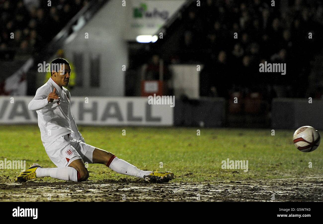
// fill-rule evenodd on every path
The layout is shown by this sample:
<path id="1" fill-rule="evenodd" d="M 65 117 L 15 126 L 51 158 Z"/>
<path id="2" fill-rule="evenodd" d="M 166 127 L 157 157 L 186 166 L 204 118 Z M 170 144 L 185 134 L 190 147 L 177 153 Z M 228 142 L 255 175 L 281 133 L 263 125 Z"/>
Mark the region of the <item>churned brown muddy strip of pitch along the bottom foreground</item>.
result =
<path id="1" fill-rule="evenodd" d="M 273 199 L 275 195 L 275 199 Z M 3 183 L 0 201 L 323 201 L 323 179 L 146 184 L 124 180 Z"/>

